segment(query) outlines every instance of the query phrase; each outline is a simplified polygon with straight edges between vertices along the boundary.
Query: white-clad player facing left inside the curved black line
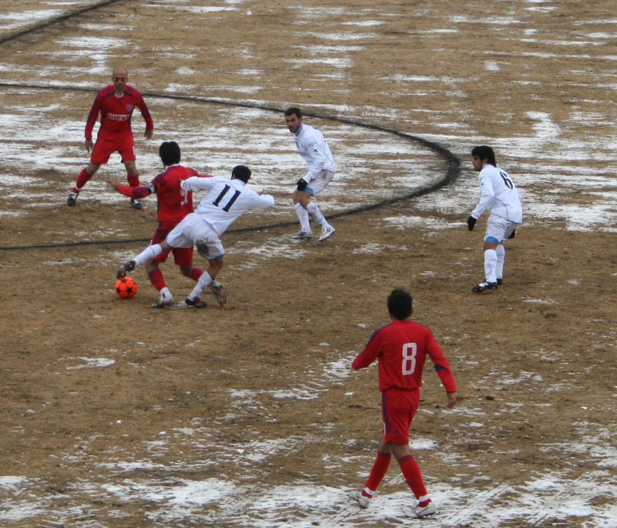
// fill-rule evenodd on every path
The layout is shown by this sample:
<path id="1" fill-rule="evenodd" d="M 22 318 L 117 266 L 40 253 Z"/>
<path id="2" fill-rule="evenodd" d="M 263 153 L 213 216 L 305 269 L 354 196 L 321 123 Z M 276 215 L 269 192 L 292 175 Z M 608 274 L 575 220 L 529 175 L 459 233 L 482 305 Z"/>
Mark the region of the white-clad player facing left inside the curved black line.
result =
<path id="1" fill-rule="evenodd" d="M 321 242 L 334 234 L 336 229 L 329 225 L 317 204 L 311 202 L 310 198 L 323 191 L 326 185 L 334 179 L 336 166 L 323 134 L 317 128 L 302 123 L 302 112 L 299 108 L 291 107 L 285 110 L 285 121 L 289 131 L 294 134 L 299 154 L 307 163 L 306 176 L 299 179 L 292 195 L 296 214 L 300 220 L 300 231 L 294 234 L 294 238 L 304 239 L 313 236 L 309 225 L 309 215 L 311 215 L 313 220 L 321 226 L 319 237 Z"/>

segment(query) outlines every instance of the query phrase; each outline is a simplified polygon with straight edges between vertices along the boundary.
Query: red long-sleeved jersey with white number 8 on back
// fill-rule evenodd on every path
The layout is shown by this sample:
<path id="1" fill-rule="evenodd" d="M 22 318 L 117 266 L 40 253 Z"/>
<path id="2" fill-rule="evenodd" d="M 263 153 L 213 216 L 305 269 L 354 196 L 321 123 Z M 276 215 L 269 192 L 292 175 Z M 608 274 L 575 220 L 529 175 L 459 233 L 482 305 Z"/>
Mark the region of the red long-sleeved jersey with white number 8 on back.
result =
<path id="1" fill-rule="evenodd" d="M 420 389 L 422 371 L 428 355 L 444 384 L 445 392 L 456 392 L 450 365 L 426 326 L 411 320 L 393 320 L 379 328 L 366 348 L 352 363 L 355 370 L 379 360 L 379 390 Z"/>

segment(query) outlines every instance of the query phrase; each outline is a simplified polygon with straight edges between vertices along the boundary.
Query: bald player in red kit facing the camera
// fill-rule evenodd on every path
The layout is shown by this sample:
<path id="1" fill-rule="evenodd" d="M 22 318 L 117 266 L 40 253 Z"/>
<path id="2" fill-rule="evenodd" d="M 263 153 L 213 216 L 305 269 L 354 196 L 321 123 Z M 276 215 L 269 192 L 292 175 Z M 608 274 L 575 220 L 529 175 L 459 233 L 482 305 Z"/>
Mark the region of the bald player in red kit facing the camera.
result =
<path id="1" fill-rule="evenodd" d="M 115 68 L 112 73 L 113 85 L 103 88 L 94 99 L 94 104 L 88 114 L 86 122 L 86 151 L 92 151 L 88 167 L 83 169 L 77 178 L 77 183 L 68 195 L 67 204 L 75 205 L 79 192 L 94 176 L 101 165 L 109 161 L 110 155 L 119 152 L 122 163 L 126 167 L 126 179 L 131 187 L 139 186 L 139 173 L 135 166 L 135 140 L 131 130 L 131 116 L 133 110 L 138 107 L 146 121 L 144 136 L 152 139 L 154 123 L 150 112 L 141 94 L 132 86 L 128 86 L 128 72 L 126 68 Z M 92 142 L 94 123 L 101 114 L 101 127 L 97 134 L 96 143 Z M 143 208 L 141 200 L 131 199 L 131 207 Z"/>

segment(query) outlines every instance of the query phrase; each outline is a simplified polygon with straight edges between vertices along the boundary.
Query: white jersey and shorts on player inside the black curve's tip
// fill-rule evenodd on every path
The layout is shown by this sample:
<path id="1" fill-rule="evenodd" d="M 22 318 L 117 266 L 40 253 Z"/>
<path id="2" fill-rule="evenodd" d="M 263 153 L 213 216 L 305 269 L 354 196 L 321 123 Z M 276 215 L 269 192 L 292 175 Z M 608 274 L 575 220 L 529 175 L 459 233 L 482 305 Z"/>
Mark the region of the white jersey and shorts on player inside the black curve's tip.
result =
<path id="1" fill-rule="evenodd" d="M 308 185 L 305 190 L 309 194 L 318 194 L 334 179 L 334 173 L 336 173 L 330 147 L 317 128 L 304 123 L 294 134 L 294 141 L 299 154 L 307 164 L 304 179 Z"/>

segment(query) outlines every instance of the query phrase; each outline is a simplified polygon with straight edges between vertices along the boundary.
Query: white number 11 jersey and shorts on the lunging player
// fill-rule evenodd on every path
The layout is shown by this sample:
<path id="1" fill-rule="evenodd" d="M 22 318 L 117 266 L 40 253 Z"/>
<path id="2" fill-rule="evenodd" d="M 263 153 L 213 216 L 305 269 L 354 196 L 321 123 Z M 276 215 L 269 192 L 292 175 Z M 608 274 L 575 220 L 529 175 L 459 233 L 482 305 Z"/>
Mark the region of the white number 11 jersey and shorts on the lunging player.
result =
<path id="1" fill-rule="evenodd" d="M 183 192 L 208 191 L 197 212 L 186 215 L 167 235 L 172 247 L 197 246 L 199 254 L 213 260 L 225 254 L 220 236 L 242 214 L 251 209 L 273 207 L 274 198 L 260 196 L 247 189 L 241 179 L 221 176 L 199 178 L 193 176 L 180 182 Z"/>

